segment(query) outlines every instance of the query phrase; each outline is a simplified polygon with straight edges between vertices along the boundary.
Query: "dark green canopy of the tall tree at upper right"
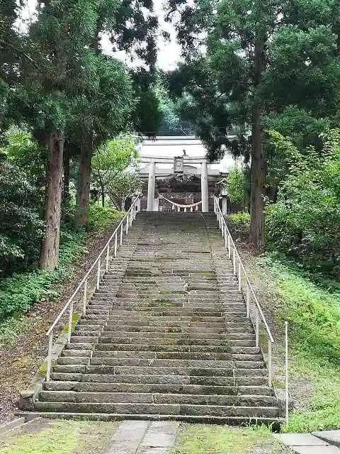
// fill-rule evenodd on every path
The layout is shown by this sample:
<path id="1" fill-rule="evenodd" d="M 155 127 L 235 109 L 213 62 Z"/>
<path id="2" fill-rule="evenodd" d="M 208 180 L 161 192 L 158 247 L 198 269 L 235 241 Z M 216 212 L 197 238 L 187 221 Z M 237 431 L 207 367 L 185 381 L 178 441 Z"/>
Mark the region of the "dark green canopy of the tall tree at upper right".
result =
<path id="1" fill-rule="evenodd" d="M 180 15 L 176 30 L 184 57 L 168 74 L 169 88 L 212 159 L 226 151 L 249 159 L 254 101 L 263 113 L 261 126 L 289 134 L 299 148 L 317 143 L 317 134 L 337 118 L 335 2 L 196 0 L 189 6 L 169 0 L 168 11 Z M 263 46 L 258 67 L 255 43 Z"/>

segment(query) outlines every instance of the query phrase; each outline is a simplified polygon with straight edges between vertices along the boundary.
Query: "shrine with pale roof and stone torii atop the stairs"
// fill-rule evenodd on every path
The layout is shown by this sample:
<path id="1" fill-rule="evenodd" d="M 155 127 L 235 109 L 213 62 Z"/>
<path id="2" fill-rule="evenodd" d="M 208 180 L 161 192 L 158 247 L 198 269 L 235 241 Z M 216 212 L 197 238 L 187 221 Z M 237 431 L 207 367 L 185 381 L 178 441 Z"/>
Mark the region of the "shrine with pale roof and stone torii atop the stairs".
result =
<path id="1" fill-rule="evenodd" d="M 231 155 L 208 164 L 203 143 L 193 136 L 143 138 L 139 151 L 142 211 L 212 211 L 213 196 L 220 196 L 225 214 L 239 211 L 223 187 L 237 163 Z"/>

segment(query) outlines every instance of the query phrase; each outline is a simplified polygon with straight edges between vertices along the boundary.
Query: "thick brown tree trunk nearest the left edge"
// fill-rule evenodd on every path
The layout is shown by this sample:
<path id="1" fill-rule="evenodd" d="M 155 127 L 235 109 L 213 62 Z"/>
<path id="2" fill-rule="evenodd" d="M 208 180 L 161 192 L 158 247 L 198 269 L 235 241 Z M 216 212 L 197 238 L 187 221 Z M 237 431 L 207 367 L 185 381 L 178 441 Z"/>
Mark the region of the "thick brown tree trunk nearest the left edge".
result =
<path id="1" fill-rule="evenodd" d="M 54 270 L 58 263 L 60 243 L 60 211 L 62 203 L 62 157 L 64 134 L 54 131 L 48 146 L 49 162 L 46 175 L 46 232 L 40 251 L 40 268 Z"/>

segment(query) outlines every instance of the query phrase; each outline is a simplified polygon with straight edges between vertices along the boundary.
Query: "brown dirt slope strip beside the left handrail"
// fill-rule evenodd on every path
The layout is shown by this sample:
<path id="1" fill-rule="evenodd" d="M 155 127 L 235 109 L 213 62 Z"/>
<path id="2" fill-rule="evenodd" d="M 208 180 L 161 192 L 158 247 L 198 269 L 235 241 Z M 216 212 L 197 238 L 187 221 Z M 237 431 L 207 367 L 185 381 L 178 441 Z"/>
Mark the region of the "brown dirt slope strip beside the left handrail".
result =
<path id="1" fill-rule="evenodd" d="M 60 294 L 53 301 L 42 301 L 32 306 L 24 317 L 23 334 L 14 343 L 0 348 L 0 423 L 11 421 L 18 409 L 18 393 L 28 387 L 38 367 L 47 355 L 47 338 L 45 333 L 55 317 L 72 294 L 79 281 L 98 257 L 98 253 L 110 238 L 113 228 L 91 236 L 84 244 L 89 253 L 82 255 L 74 264 L 72 279 L 57 284 Z"/>

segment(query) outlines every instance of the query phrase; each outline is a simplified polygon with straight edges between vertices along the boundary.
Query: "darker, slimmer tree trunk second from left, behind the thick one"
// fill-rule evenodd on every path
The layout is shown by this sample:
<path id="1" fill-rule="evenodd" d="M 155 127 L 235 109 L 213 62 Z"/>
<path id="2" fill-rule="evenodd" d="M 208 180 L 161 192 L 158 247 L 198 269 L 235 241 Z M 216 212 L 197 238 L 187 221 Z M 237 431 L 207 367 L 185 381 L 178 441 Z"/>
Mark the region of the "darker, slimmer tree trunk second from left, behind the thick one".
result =
<path id="1" fill-rule="evenodd" d="M 78 225 L 85 224 L 89 217 L 91 160 L 93 147 L 91 143 L 83 143 L 80 147 L 79 179 L 77 186 L 77 207 L 74 221 Z"/>

